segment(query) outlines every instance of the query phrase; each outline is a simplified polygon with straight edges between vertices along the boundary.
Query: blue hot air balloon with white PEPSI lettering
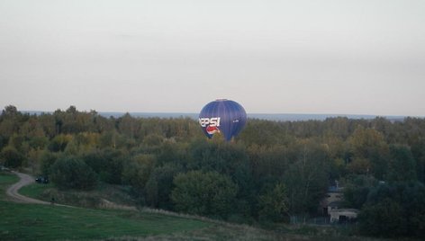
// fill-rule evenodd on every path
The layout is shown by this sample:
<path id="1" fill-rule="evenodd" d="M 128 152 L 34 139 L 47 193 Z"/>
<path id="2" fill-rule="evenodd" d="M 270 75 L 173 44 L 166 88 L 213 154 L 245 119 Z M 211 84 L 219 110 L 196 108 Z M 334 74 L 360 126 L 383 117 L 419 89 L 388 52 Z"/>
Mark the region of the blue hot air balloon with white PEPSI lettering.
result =
<path id="1" fill-rule="evenodd" d="M 207 103 L 199 113 L 199 124 L 208 138 L 221 132 L 229 141 L 240 133 L 246 122 L 247 113 L 243 107 L 239 103 L 226 99 Z"/>

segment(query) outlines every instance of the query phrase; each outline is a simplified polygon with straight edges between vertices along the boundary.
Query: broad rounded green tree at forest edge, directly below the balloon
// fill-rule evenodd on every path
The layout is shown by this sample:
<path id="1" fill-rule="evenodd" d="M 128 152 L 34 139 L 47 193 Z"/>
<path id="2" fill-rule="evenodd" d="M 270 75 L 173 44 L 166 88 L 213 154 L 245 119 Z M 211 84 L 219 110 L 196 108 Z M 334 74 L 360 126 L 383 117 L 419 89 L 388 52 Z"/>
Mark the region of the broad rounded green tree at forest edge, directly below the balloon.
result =
<path id="1" fill-rule="evenodd" d="M 177 174 L 174 184 L 171 200 L 176 203 L 177 211 L 222 218 L 232 213 L 238 186 L 229 176 L 190 171 Z"/>

